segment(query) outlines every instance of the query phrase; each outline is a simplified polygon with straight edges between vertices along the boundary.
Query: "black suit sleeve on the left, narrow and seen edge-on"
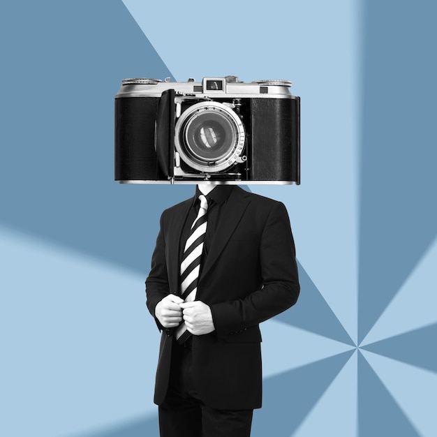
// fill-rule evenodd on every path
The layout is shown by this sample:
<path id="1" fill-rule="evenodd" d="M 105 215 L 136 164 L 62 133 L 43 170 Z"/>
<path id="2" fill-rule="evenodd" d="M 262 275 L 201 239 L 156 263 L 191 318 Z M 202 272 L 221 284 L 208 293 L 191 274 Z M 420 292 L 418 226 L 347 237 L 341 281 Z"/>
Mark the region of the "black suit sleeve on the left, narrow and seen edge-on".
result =
<path id="1" fill-rule="evenodd" d="M 146 279 L 147 308 L 156 320 L 158 329 L 164 329 L 155 317 L 155 307 L 158 302 L 170 294 L 168 285 L 167 263 L 165 260 L 164 213 L 161 215 L 160 230 L 156 238 L 156 246 L 151 256 L 151 270 Z"/>

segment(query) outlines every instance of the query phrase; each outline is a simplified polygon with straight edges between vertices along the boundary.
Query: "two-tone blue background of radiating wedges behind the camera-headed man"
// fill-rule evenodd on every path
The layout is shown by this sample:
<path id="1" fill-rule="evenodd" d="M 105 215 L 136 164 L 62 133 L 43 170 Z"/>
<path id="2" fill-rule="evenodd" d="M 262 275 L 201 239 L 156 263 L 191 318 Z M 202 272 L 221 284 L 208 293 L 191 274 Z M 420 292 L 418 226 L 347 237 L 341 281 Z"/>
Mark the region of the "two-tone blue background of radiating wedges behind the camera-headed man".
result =
<path id="1" fill-rule="evenodd" d="M 113 180 L 125 77 L 293 81 L 302 292 L 262 324 L 254 437 L 434 437 L 433 1 L 0 3 L 0 435 L 157 436 L 145 307 L 158 221 L 193 186 Z M 284 348 L 283 339 L 288 339 Z"/>

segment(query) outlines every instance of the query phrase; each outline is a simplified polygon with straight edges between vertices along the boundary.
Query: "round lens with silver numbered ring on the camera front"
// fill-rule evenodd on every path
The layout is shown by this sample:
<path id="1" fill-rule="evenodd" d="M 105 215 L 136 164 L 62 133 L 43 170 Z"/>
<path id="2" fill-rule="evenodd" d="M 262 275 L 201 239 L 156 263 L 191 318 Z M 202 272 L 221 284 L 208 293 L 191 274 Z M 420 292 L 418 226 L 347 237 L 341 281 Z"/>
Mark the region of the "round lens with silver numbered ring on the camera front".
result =
<path id="1" fill-rule="evenodd" d="M 175 148 L 187 165 L 205 173 L 230 168 L 242 154 L 246 135 L 238 115 L 223 103 L 195 103 L 175 126 Z"/>

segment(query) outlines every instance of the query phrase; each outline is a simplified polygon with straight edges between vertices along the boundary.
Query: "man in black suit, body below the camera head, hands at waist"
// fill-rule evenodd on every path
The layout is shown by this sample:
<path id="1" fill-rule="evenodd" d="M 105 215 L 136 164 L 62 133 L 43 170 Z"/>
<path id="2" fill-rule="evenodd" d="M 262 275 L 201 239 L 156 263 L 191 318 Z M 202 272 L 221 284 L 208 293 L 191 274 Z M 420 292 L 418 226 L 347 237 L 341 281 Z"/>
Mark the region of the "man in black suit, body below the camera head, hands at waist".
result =
<path id="1" fill-rule="evenodd" d="M 200 273 L 186 297 L 181 260 L 202 214 Z M 161 216 L 146 292 L 163 332 L 154 396 L 161 437 L 250 436 L 261 407 L 259 323 L 299 295 L 284 205 L 238 186 L 198 185 Z"/>

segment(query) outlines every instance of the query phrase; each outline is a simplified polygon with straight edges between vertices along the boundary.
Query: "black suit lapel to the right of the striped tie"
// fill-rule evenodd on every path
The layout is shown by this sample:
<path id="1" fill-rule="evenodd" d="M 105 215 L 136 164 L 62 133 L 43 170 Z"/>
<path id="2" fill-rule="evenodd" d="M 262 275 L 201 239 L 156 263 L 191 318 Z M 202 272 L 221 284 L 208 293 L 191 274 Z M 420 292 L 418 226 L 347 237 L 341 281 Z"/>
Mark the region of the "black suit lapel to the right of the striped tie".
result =
<path id="1" fill-rule="evenodd" d="M 202 279 L 202 276 L 205 276 L 209 269 L 211 269 L 214 262 L 216 262 L 218 255 L 223 251 L 235 228 L 237 228 L 237 225 L 249 203 L 249 193 L 246 193 L 246 191 L 239 187 L 235 187 L 235 190 L 232 191 L 223 212 L 221 212 L 221 220 L 220 223 L 218 223 L 216 235 L 214 235 L 214 239 L 212 240 L 212 245 L 205 260 L 205 265 L 202 268 L 200 280 Z"/>

